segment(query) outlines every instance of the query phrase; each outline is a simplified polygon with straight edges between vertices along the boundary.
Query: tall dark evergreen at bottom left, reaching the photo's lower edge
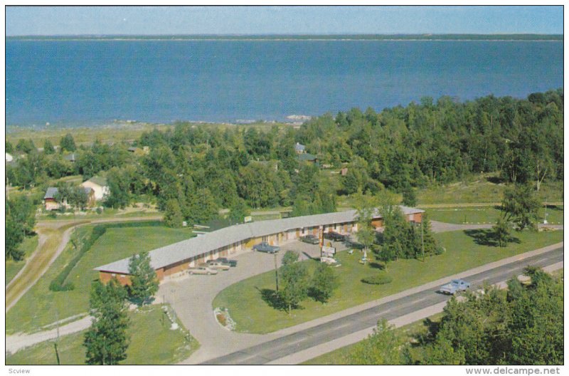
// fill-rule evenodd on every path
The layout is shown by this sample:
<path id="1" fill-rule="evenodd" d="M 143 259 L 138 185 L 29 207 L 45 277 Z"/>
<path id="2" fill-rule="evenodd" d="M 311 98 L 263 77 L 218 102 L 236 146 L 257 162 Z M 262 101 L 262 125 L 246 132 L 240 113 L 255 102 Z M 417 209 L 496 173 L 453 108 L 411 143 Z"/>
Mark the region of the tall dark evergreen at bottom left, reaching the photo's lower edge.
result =
<path id="1" fill-rule="evenodd" d="M 85 362 L 88 365 L 117 365 L 127 358 L 129 318 L 127 293 L 116 279 L 107 285 L 96 281 L 91 287 L 91 327 L 85 333 Z"/>

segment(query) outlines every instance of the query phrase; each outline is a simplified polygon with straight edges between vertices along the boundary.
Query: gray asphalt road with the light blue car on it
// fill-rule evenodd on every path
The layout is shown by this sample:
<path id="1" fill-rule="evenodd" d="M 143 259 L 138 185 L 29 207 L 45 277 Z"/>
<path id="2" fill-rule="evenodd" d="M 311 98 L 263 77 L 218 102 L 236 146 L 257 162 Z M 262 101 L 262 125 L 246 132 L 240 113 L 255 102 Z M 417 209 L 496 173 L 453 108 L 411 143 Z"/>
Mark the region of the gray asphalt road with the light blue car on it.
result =
<path id="1" fill-rule="evenodd" d="M 563 247 L 553 249 L 544 254 L 539 254 L 521 261 L 507 263 L 504 266 L 490 269 L 482 273 L 469 276 L 467 281 L 472 288 L 482 286 L 484 282 L 494 284 L 506 281 L 511 276 L 519 275 L 523 268 L 528 265 L 548 266 L 563 261 Z M 337 338 L 342 338 L 351 333 L 365 330 L 376 325 L 380 318 L 393 320 L 415 310 L 430 307 L 450 299 L 449 296 L 436 292 L 437 288 L 431 288 L 420 293 L 399 298 L 375 307 L 353 313 L 343 318 L 331 320 L 328 323 L 314 326 L 306 330 L 285 335 L 284 337 L 270 340 L 259 345 L 233 352 L 222 357 L 217 357 L 203 364 L 208 365 L 262 365 L 278 360 L 287 355 L 327 343 Z"/>

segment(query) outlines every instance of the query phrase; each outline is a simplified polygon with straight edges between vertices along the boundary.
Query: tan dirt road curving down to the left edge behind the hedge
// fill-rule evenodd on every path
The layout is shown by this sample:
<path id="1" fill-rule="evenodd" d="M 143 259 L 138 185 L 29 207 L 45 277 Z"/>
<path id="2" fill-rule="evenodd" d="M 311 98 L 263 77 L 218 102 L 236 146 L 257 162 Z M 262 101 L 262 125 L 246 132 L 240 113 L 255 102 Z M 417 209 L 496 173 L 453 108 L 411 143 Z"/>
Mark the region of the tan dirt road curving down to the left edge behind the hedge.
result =
<path id="1" fill-rule="evenodd" d="M 105 222 L 124 222 L 124 221 L 147 221 L 161 219 L 161 215 L 156 216 L 133 216 L 129 218 L 105 218 L 105 219 L 83 219 L 69 221 L 41 221 L 36 224 L 38 233 L 38 247 L 36 251 L 26 260 L 26 265 L 6 286 L 6 312 L 18 302 L 31 286 L 46 273 L 49 266 L 63 252 L 68 244 L 73 230 L 77 226 L 85 224 L 97 224 Z"/>

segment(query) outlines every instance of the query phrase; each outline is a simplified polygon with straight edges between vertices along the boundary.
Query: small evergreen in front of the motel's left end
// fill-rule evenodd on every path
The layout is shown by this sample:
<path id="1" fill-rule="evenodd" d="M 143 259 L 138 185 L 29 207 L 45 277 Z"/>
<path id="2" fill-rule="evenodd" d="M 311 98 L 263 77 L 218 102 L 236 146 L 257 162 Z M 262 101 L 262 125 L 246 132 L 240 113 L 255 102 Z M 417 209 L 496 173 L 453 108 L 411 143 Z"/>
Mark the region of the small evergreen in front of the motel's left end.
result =
<path id="1" fill-rule="evenodd" d="M 132 284 L 129 286 L 130 298 L 137 305 L 149 304 L 158 291 L 156 271 L 150 266 L 148 251 L 132 255 L 129 260 L 129 274 Z"/>

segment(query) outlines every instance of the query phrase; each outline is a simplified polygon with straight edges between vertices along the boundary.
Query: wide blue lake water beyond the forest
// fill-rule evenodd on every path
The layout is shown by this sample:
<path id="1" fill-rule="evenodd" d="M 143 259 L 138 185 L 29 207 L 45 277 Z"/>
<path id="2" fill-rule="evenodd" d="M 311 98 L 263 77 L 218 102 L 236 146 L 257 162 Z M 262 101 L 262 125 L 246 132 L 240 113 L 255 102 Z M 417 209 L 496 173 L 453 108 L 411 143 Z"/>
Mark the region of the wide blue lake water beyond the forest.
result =
<path id="1" fill-rule="evenodd" d="M 283 120 L 563 87 L 563 43 L 7 41 L 7 125 Z"/>

